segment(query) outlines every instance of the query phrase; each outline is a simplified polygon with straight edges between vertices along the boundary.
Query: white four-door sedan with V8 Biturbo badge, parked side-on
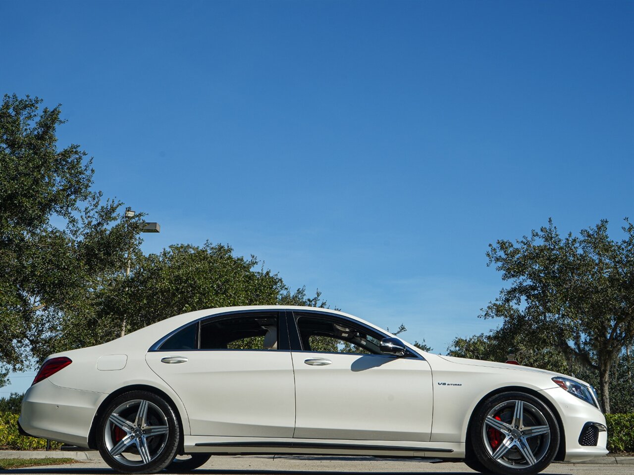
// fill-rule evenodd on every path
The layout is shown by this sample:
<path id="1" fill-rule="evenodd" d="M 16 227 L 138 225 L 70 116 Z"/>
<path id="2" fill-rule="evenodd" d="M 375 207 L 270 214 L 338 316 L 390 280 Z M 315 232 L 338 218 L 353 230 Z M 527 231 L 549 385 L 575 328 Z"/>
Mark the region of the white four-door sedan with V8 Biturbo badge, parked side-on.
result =
<path id="1" fill-rule="evenodd" d="M 198 310 L 51 355 L 19 424 L 96 448 L 128 474 L 188 471 L 210 455 L 319 454 L 527 475 L 607 453 L 605 417 L 583 381 L 432 355 L 309 307 Z"/>

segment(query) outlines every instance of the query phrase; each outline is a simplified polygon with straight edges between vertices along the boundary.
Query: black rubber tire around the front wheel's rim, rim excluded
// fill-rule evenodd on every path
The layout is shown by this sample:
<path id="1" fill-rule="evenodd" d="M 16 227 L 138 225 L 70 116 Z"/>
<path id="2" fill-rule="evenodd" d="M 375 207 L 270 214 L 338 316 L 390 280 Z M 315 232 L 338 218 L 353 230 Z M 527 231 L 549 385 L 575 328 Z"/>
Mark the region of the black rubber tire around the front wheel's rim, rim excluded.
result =
<path id="1" fill-rule="evenodd" d="M 544 457 L 537 462 L 534 466 L 514 469 L 511 467 L 503 466 L 497 462 L 486 449 L 484 440 L 482 440 L 482 426 L 484 426 L 484 419 L 488 412 L 496 405 L 508 401 L 508 400 L 520 400 L 527 402 L 536 407 L 546 418 L 548 426 L 550 426 L 550 445 L 548 451 Z M 550 465 L 552 460 L 557 455 L 559 450 L 559 424 L 552 410 L 540 399 L 527 393 L 520 392 L 508 392 L 501 393 L 495 396 L 491 396 L 482 403 L 475 411 L 474 424 L 471 424 L 470 428 L 470 442 L 475 459 L 480 462 L 486 469 L 496 474 L 517 474 L 517 475 L 533 475 L 543 471 Z"/>

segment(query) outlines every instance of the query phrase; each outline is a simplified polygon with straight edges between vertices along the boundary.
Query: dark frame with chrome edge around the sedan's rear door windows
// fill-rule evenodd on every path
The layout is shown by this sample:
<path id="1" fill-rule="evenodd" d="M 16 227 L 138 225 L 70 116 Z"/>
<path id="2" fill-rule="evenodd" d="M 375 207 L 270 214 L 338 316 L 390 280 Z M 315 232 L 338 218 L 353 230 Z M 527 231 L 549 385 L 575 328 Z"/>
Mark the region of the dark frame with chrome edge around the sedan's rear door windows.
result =
<path id="1" fill-rule="evenodd" d="M 196 343 L 197 346 L 200 346 L 200 327 L 202 327 L 202 324 L 204 322 L 204 320 L 215 320 L 215 319 L 219 319 L 219 320 L 224 320 L 224 319 L 228 319 L 231 318 L 232 316 L 238 316 L 238 315 L 245 315 L 245 314 L 271 314 L 271 315 L 275 315 L 278 319 L 278 348 L 277 350 L 256 350 L 256 349 L 231 349 L 231 348 L 208 348 L 208 349 L 201 349 L 201 348 L 192 348 L 191 350 L 163 350 L 161 347 L 161 345 L 163 345 L 163 343 L 165 343 L 165 341 L 167 341 L 167 339 L 171 338 L 171 336 L 173 336 L 174 334 L 178 333 L 179 331 L 181 331 L 182 329 L 184 329 L 185 327 L 188 327 L 190 325 L 197 325 L 197 338 L 196 338 Z M 247 316 L 247 315 L 245 315 Z M 148 349 L 148 353 L 150 352 L 271 352 L 271 351 L 275 351 L 275 352 L 288 352 L 290 351 L 290 343 L 288 341 L 288 325 L 287 325 L 287 319 L 286 319 L 286 315 L 285 315 L 285 310 L 274 310 L 274 309 L 250 309 L 250 310 L 233 310 L 231 312 L 221 312 L 219 314 L 213 314 L 213 315 L 205 315 L 204 317 L 200 317 L 198 319 L 195 320 L 191 320 L 190 322 L 187 322 L 186 324 L 183 324 L 181 326 L 179 326 L 178 328 L 172 330 L 170 333 L 166 334 L 165 336 L 163 336 L 162 338 L 160 338 L 156 343 L 154 343 L 152 346 L 150 346 L 150 348 Z"/>

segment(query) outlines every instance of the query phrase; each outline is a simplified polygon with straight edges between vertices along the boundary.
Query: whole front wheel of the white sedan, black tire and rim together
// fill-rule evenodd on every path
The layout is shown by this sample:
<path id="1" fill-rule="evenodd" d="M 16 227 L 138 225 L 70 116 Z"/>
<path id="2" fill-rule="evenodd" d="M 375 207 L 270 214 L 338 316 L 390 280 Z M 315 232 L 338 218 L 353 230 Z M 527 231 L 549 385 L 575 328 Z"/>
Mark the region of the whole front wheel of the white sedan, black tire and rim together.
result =
<path id="1" fill-rule="evenodd" d="M 557 455 L 559 426 L 552 411 L 538 398 L 519 392 L 501 393 L 475 410 L 469 440 L 475 456 L 470 461 L 479 462 L 486 471 L 534 475 Z"/>

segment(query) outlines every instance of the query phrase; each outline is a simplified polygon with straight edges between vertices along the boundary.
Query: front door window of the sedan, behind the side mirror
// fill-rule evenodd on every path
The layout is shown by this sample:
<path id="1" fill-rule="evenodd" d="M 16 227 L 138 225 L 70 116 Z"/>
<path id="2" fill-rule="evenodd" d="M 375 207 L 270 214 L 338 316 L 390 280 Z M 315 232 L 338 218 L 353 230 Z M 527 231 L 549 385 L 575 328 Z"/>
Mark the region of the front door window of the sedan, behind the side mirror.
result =
<path id="1" fill-rule="evenodd" d="M 379 333 L 347 320 L 299 315 L 297 329 L 302 348 L 309 352 L 381 355 Z"/>

